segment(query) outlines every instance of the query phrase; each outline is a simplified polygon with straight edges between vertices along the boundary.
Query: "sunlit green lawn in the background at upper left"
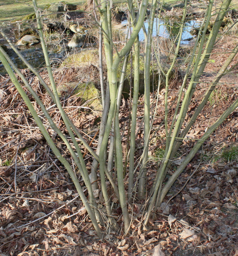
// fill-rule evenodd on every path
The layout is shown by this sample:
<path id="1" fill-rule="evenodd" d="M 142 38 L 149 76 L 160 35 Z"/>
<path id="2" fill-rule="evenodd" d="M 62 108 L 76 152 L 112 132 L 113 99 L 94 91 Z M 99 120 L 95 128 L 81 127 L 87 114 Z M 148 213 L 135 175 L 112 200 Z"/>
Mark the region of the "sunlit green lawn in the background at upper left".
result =
<path id="1" fill-rule="evenodd" d="M 40 8 L 44 9 L 49 3 L 60 2 L 60 0 L 38 0 Z M 82 5 L 86 0 L 68 0 L 70 4 Z M 25 16 L 34 12 L 32 0 L 0 0 L 0 21 L 10 21 L 18 17 Z"/>

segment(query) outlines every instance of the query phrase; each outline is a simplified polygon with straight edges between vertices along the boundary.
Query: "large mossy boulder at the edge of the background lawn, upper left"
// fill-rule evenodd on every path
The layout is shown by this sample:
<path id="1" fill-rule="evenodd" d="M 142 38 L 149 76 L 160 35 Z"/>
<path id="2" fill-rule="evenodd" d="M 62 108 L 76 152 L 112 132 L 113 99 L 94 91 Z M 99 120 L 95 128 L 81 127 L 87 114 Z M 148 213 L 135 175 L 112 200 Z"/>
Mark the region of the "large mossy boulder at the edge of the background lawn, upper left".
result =
<path id="1" fill-rule="evenodd" d="M 77 9 L 77 5 L 66 4 L 66 2 L 58 2 L 54 4 L 48 4 L 45 6 L 44 11 L 45 14 L 48 15 L 49 18 L 55 19 L 63 16 L 62 11 L 74 11 Z"/>

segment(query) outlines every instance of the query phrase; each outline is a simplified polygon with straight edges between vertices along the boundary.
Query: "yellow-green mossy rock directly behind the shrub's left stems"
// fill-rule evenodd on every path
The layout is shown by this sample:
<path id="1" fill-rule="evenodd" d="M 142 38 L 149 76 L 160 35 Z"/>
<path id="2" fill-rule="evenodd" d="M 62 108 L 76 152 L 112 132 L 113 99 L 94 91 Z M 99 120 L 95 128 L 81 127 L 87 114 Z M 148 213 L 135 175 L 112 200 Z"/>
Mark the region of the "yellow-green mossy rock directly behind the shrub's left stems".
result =
<path id="1" fill-rule="evenodd" d="M 102 102 L 100 99 L 100 92 L 96 89 L 94 83 L 66 83 L 58 86 L 58 94 L 64 96 L 80 97 L 82 103 L 86 102 L 85 107 L 93 110 L 93 114 L 102 115 Z"/>

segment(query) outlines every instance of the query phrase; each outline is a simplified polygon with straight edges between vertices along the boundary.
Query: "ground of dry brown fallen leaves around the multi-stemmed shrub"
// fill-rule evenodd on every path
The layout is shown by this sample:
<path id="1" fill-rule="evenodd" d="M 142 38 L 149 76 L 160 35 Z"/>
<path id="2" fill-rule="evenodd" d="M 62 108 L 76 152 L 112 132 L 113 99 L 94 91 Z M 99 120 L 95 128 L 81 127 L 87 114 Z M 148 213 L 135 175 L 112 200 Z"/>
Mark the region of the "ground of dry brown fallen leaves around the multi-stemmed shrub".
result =
<path id="1" fill-rule="evenodd" d="M 237 43 L 238 36 L 221 37 L 215 46 L 204 76 L 199 80 L 190 103 L 185 122 L 202 100 L 204 91 Z M 218 54 L 219 53 L 219 54 Z M 238 63 L 238 56 L 233 64 Z M 181 67 L 183 70 L 183 67 Z M 22 70 L 27 80 L 49 109 L 55 123 L 68 136 L 58 109 L 29 71 Z M 68 74 L 76 77 L 73 67 Z M 41 72 L 48 81 L 46 72 Z M 61 78 L 55 74 L 56 82 Z M 178 76 L 170 82 L 169 105 L 181 85 Z M 39 116 L 42 111 L 33 102 Z M 151 102 L 155 93 L 151 93 Z M 223 77 L 217 89 L 194 123 L 178 157 L 173 161 L 171 174 L 190 152 L 190 149 L 223 111 L 238 97 L 238 68 Z M 97 147 L 98 116 L 80 108 L 80 98 L 61 98 L 65 111 L 74 121 L 84 138 Z M 159 93 L 159 105 L 153 123 L 147 169 L 147 190 L 153 183 L 165 147 L 164 129 L 156 129 L 164 118 L 164 90 Z M 139 98 L 136 146 L 143 145 L 144 97 Z M 155 110 L 155 104 L 153 111 Z M 126 154 L 129 101 L 123 99 L 120 125 L 123 154 Z M 169 113 L 170 121 L 173 109 Z M 43 119 L 42 119 L 43 120 Z M 62 155 L 73 166 L 63 142 L 47 122 L 45 127 Z M 139 147 L 140 148 L 140 147 Z M 82 147 L 88 170 L 92 157 Z M 141 156 L 135 154 L 135 162 Z M 73 168 L 75 168 L 73 166 Z M 77 173 L 77 170 L 76 170 Z M 81 186 L 85 185 L 79 176 Z M 125 186 L 127 185 L 125 176 Z M 124 237 L 123 230 L 115 233 L 107 226 L 107 235 L 99 240 L 82 201 L 64 167 L 55 158 L 45 142 L 9 76 L 0 77 L 0 255 L 153 255 L 153 256 L 238 256 L 238 111 L 227 117 L 187 165 L 169 190 L 155 219 L 143 227 L 141 213 L 144 200 L 136 199 L 131 234 Z M 87 196 L 87 191 L 85 190 Z M 121 208 L 115 203 L 118 223 L 122 223 Z"/>

